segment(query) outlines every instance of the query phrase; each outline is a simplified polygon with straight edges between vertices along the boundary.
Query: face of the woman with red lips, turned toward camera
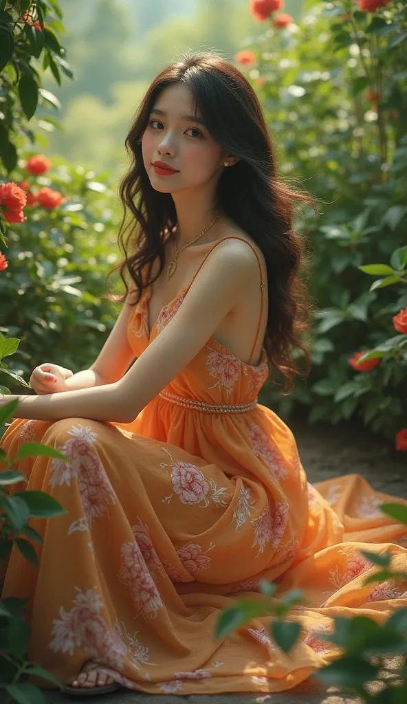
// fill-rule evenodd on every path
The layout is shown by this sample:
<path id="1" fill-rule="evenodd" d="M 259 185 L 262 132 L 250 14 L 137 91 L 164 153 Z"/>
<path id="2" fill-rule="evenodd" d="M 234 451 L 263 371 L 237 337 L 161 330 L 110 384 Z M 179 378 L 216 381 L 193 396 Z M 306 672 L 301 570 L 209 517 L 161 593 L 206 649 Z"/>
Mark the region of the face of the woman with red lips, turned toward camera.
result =
<path id="1" fill-rule="evenodd" d="M 163 89 L 142 138 L 144 168 L 157 191 L 173 193 L 199 187 L 222 173 L 224 151 L 204 125 L 187 115 L 192 115 L 189 88 L 177 83 Z M 154 161 L 165 162 L 177 173 L 159 175 Z"/>

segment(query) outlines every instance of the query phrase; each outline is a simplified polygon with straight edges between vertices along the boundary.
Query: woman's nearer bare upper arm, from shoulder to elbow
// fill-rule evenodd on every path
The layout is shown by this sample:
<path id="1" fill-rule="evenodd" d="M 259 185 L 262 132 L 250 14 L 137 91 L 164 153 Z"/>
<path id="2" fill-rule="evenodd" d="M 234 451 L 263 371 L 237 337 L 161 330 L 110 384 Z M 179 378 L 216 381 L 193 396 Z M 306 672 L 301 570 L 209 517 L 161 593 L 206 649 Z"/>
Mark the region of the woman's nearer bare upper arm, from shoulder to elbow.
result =
<path id="1" fill-rule="evenodd" d="M 216 246 L 173 318 L 120 381 L 129 422 L 201 351 L 256 275 L 258 261 L 246 244 Z"/>

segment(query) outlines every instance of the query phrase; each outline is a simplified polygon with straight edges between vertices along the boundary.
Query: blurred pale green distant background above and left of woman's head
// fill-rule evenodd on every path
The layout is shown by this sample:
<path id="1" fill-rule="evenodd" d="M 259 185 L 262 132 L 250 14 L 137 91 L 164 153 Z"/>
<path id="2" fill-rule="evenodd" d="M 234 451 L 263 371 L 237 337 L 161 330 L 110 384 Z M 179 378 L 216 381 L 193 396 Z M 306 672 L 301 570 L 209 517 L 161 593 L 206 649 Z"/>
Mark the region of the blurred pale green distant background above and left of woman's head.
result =
<path id="1" fill-rule="evenodd" d="M 62 103 L 56 117 L 63 133 L 47 133 L 43 151 L 94 171 L 108 168 L 113 179 L 127 163 L 125 136 L 158 70 L 186 49 L 217 49 L 232 60 L 268 25 L 256 22 L 248 0 L 61 0 L 60 6 L 75 80 L 58 87 L 50 70 L 44 75 L 44 87 Z M 287 0 L 283 11 L 299 20 L 301 1 Z"/>

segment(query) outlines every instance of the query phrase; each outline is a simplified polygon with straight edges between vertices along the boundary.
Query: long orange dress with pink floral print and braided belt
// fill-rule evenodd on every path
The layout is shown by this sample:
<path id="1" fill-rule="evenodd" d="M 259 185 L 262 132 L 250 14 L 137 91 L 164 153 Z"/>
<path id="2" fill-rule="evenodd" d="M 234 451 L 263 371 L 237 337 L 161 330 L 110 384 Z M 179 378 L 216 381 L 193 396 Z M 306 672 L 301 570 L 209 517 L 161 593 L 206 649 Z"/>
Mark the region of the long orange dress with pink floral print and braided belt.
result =
<path id="1" fill-rule="evenodd" d="M 151 330 L 144 289 L 127 333 L 136 356 L 191 284 Z M 8 457 L 40 441 L 72 460 L 15 465 L 27 489 L 68 513 L 30 520 L 44 540 L 39 569 L 13 548 L 3 590 L 28 599 L 29 656 L 64 684 L 92 659 L 146 693 L 283 691 L 338 655 L 318 637 L 332 616 L 381 622 L 407 606 L 399 578 L 363 586 L 379 568 L 361 548 L 389 549 L 394 570 L 407 572 L 406 527 L 378 508 L 393 497 L 356 474 L 309 484 L 292 431 L 257 403 L 268 373 L 264 348 L 251 365 L 211 337 L 131 424 L 11 422 L 1 441 Z M 270 639 L 270 615 L 215 640 L 221 610 L 261 598 L 262 578 L 277 582 L 277 595 L 295 586 L 307 600 L 289 616 L 302 625 L 289 656 Z"/>

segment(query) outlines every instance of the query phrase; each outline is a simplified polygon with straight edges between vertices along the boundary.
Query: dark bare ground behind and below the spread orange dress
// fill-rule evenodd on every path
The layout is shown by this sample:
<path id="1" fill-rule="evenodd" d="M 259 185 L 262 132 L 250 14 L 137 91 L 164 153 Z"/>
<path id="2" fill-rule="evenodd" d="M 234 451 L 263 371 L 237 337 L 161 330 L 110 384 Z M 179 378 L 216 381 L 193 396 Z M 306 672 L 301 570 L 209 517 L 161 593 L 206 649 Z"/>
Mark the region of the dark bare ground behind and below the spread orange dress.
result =
<path id="1" fill-rule="evenodd" d="M 308 425 L 297 415 L 286 421 L 296 437 L 308 481 L 312 484 L 339 474 L 361 474 L 375 489 L 407 498 L 407 453 L 394 450 L 380 436 L 355 423 L 337 426 Z M 395 661 L 393 661 L 393 665 Z M 389 666 L 391 667 L 390 663 Z M 46 693 L 52 704 L 68 698 L 56 691 Z M 72 702 L 84 704 L 360 704 L 361 700 L 315 679 L 287 692 L 275 694 L 219 694 L 216 696 L 155 695 L 120 689 L 104 696 L 75 696 Z"/>

